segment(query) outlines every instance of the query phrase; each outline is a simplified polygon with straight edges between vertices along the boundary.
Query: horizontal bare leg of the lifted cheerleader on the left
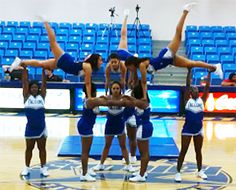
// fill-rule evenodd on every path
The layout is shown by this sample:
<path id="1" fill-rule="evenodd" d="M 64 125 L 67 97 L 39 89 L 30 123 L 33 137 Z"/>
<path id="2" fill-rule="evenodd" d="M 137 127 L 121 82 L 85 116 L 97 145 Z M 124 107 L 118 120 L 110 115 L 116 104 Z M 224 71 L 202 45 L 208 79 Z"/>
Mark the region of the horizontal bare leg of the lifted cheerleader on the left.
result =
<path id="1" fill-rule="evenodd" d="M 47 59 L 47 60 L 36 60 L 36 59 L 30 59 L 30 60 L 22 60 L 21 61 L 22 66 L 32 66 L 32 67 L 42 67 L 44 69 L 55 69 L 56 68 L 56 60 L 55 59 Z"/>

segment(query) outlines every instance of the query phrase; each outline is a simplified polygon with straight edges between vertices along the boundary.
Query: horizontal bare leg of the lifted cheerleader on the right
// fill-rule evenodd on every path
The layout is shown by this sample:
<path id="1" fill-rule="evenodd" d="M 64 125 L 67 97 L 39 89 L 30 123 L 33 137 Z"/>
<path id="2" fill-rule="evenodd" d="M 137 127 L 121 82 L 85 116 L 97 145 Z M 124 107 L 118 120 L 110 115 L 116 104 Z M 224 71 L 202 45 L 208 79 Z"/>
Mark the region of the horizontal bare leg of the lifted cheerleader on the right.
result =
<path id="1" fill-rule="evenodd" d="M 174 60 L 174 66 L 177 67 L 202 67 L 206 69 L 210 69 L 211 71 L 216 70 L 216 66 L 205 63 L 203 61 L 194 61 L 187 59 L 183 56 L 180 55 L 175 55 L 175 60 Z"/>

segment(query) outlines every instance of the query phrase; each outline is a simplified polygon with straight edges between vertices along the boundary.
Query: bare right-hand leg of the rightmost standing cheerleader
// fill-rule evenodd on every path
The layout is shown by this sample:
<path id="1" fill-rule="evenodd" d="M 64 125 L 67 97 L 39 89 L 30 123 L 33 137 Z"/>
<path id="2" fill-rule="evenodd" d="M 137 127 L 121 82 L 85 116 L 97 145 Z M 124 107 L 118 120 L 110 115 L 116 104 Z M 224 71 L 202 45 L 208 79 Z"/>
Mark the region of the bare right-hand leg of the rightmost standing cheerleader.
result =
<path id="1" fill-rule="evenodd" d="M 202 169 L 202 144 L 203 144 L 203 136 L 198 135 L 193 137 L 194 149 L 196 153 L 197 160 L 197 169 L 200 171 Z"/>

